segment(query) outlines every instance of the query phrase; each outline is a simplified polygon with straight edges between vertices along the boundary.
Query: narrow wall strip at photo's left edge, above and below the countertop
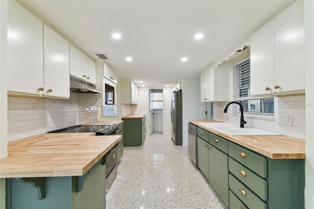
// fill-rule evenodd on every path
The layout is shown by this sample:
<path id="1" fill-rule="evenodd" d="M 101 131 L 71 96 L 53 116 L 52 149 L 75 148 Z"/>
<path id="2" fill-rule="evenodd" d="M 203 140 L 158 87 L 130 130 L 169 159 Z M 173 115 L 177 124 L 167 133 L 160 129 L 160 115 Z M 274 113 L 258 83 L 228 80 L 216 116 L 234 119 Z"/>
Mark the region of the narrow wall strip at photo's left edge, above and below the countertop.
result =
<path id="1" fill-rule="evenodd" d="M 0 158 L 7 156 L 6 84 L 7 1 L 0 0 Z M 0 209 L 5 208 L 5 179 L 0 179 Z"/>

